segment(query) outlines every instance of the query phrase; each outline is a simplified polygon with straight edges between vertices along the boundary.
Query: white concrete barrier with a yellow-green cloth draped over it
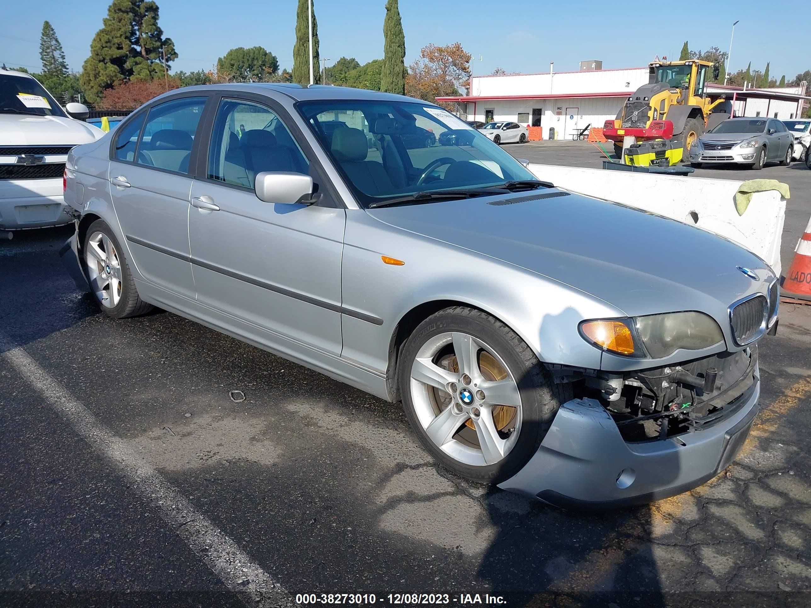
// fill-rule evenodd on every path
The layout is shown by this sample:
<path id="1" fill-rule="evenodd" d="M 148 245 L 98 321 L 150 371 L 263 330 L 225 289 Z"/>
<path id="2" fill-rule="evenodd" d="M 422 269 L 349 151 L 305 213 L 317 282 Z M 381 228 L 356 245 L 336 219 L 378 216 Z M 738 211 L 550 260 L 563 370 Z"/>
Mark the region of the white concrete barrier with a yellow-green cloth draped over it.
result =
<path id="1" fill-rule="evenodd" d="M 652 175 L 603 169 L 530 164 L 539 179 L 565 190 L 594 196 L 697 225 L 735 241 L 765 259 L 780 276 L 780 238 L 786 200 L 777 191 L 756 192 L 739 216 L 735 193 L 740 181 Z"/>

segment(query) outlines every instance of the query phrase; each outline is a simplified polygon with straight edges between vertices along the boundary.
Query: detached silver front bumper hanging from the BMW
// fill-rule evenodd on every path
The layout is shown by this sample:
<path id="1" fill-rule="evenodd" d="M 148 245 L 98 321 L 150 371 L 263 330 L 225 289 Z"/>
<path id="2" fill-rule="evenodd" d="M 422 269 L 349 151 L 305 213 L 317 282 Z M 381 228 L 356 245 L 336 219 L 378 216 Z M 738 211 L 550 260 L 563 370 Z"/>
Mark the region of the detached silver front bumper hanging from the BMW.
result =
<path id="1" fill-rule="evenodd" d="M 759 411 L 756 354 L 729 390 L 723 415 L 697 418 L 687 432 L 644 441 L 624 439 L 599 400 L 570 400 L 530 462 L 499 487 L 581 510 L 650 503 L 691 490 L 726 469 L 749 436 Z"/>

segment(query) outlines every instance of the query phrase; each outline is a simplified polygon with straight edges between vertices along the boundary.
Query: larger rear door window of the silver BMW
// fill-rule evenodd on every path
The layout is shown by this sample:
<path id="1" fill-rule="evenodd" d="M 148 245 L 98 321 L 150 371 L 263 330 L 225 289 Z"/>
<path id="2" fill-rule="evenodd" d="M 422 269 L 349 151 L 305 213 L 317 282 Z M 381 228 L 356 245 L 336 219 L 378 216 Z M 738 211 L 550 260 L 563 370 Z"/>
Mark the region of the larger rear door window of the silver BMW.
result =
<path id="1" fill-rule="evenodd" d="M 138 148 L 138 164 L 188 173 L 191 145 L 205 97 L 166 101 L 149 110 Z"/>

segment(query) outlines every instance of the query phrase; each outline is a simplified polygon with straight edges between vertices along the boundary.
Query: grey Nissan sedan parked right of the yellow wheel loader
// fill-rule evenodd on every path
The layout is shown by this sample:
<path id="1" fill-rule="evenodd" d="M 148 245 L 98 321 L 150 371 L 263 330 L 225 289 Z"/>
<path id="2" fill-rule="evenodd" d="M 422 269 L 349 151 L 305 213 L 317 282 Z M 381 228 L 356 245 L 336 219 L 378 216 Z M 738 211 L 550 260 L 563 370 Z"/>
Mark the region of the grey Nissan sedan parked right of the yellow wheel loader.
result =
<path id="1" fill-rule="evenodd" d="M 690 147 L 690 165 L 736 163 L 763 169 L 768 161 L 788 165 L 794 135 L 777 118 L 727 118 Z"/>

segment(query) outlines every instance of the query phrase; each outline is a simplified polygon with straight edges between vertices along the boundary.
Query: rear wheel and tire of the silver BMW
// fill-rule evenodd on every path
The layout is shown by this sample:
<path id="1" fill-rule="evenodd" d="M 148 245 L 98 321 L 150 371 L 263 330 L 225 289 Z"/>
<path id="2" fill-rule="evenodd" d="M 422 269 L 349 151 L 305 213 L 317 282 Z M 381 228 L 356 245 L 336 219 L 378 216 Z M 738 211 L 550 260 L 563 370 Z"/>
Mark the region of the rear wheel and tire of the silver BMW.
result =
<path id="1" fill-rule="evenodd" d="M 123 319 L 152 310 L 139 298 L 124 250 L 107 222 L 97 220 L 88 227 L 82 251 L 90 289 L 105 315 Z"/>

